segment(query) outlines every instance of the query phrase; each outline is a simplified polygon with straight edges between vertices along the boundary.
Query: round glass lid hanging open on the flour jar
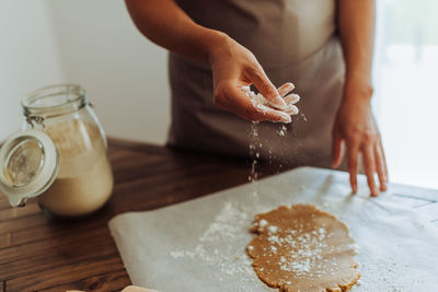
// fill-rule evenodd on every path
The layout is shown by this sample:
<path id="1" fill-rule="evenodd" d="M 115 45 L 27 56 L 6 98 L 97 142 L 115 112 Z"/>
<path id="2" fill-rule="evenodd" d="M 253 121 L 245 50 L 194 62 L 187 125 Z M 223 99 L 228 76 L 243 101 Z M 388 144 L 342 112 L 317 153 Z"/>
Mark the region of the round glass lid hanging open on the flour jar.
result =
<path id="1" fill-rule="evenodd" d="M 0 190 L 13 207 L 46 191 L 58 171 L 58 151 L 42 131 L 18 132 L 0 150 Z"/>

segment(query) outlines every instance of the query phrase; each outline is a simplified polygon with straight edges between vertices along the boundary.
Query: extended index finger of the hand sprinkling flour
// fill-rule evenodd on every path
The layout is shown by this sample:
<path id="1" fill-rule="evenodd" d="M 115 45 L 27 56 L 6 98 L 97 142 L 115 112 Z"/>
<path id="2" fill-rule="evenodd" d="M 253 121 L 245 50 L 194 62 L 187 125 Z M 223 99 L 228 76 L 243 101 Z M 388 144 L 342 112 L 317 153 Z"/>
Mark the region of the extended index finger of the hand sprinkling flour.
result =
<path id="1" fill-rule="evenodd" d="M 251 82 L 257 87 L 258 92 L 276 108 L 286 108 L 286 103 L 279 95 L 277 89 L 267 78 L 262 67 L 251 70 Z M 287 83 L 286 83 L 287 84 Z M 290 85 L 289 85 L 290 86 Z"/>

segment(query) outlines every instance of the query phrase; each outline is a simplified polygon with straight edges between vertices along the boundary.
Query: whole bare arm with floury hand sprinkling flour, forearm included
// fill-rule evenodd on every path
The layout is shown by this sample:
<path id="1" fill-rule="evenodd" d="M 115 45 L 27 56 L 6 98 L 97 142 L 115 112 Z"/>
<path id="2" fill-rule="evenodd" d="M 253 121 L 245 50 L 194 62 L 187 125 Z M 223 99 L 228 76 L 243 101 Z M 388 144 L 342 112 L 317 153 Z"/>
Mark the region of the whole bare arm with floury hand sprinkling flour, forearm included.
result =
<path id="1" fill-rule="evenodd" d="M 289 114 L 297 114 L 295 107 L 286 105 L 250 50 L 221 32 L 198 25 L 175 1 L 126 0 L 126 4 L 138 30 L 153 43 L 194 60 L 210 62 L 216 106 L 253 121 L 290 122 Z M 241 89 L 250 84 L 258 89 L 268 106 L 253 105 Z M 292 89 L 290 83 L 281 86 L 286 93 Z M 297 102 L 296 96 L 287 97 L 286 102 L 292 101 L 290 104 Z"/>

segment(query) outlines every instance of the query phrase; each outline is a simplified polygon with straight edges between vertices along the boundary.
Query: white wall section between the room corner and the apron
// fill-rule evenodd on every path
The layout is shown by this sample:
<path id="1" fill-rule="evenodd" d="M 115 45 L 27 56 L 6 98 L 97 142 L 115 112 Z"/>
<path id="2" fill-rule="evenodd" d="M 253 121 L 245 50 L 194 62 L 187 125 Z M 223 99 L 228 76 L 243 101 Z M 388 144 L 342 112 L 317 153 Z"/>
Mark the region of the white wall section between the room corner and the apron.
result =
<path id="1" fill-rule="evenodd" d="M 82 84 L 111 136 L 163 143 L 166 51 L 134 26 L 123 0 L 49 0 L 69 82 Z"/>

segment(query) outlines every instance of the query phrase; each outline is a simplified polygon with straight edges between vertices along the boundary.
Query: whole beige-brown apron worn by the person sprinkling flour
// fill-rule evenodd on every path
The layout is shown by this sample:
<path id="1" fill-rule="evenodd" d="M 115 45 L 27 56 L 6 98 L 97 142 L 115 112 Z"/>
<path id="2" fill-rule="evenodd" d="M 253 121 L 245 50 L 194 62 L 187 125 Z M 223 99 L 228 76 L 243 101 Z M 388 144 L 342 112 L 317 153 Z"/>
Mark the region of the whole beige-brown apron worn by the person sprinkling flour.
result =
<path id="1" fill-rule="evenodd" d="M 198 24 L 227 33 L 249 48 L 276 86 L 301 95 L 300 114 L 280 136 L 280 124 L 257 125 L 261 159 L 328 167 L 332 126 L 342 98 L 344 61 L 335 0 L 178 0 Z M 250 121 L 212 104 L 211 70 L 176 54 L 169 57 L 172 125 L 169 144 L 250 155 Z"/>

